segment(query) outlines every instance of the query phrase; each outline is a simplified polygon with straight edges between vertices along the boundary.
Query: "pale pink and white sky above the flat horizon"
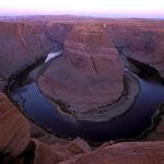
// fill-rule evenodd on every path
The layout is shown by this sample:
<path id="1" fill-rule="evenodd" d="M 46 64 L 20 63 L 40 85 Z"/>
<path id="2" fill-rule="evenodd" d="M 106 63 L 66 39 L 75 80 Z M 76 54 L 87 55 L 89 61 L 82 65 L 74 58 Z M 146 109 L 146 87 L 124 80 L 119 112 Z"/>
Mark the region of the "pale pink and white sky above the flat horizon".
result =
<path id="1" fill-rule="evenodd" d="M 164 0 L 0 0 L 0 15 L 81 14 L 163 17 Z"/>

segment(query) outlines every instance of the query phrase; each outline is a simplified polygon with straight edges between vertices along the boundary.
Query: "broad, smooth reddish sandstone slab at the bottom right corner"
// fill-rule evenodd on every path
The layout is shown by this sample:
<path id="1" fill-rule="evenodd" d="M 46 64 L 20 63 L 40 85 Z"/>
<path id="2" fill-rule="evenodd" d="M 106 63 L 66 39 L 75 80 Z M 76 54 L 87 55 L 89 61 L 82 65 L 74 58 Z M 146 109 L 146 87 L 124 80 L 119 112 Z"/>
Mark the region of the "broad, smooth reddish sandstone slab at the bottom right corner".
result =
<path id="1" fill-rule="evenodd" d="M 162 164 L 163 162 L 164 142 L 125 142 L 60 164 Z"/>

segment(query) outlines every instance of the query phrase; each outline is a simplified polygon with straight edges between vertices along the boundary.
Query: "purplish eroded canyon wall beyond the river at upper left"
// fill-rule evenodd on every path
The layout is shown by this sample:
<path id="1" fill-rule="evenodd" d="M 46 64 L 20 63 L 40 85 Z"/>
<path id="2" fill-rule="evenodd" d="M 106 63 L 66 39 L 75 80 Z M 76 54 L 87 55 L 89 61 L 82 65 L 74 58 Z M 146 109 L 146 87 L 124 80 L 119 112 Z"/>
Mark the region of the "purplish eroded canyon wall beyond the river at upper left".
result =
<path id="1" fill-rule="evenodd" d="M 46 36 L 44 24 L 0 22 L 0 79 L 7 81 L 55 47 L 56 43 Z"/>

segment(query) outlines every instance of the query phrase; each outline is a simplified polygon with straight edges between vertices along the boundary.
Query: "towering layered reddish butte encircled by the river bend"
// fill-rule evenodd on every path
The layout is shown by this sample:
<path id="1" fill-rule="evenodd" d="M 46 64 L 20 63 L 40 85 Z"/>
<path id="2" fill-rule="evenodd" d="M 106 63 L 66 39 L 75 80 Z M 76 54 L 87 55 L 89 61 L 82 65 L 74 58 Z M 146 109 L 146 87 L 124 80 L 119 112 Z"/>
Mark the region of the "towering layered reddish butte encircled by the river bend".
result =
<path id="1" fill-rule="evenodd" d="M 81 24 L 65 40 L 65 51 L 38 79 L 39 87 L 70 110 L 110 104 L 121 96 L 122 65 L 104 26 Z"/>

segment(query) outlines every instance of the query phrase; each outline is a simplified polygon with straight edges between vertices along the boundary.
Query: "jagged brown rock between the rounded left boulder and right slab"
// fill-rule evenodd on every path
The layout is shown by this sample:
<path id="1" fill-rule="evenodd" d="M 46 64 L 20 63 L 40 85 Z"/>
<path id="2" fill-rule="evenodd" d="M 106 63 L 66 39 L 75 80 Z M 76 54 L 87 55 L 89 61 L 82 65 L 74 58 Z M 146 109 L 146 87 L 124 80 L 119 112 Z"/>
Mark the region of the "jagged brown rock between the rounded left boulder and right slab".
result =
<path id="1" fill-rule="evenodd" d="M 70 141 L 68 144 L 47 145 L 37 140 L 32 140 L 34 148 L 34 164 L 58 164 L 61 161 L 71 159 L 74 155 L 89 153 L 91 148 L 81 139 Z"/>

